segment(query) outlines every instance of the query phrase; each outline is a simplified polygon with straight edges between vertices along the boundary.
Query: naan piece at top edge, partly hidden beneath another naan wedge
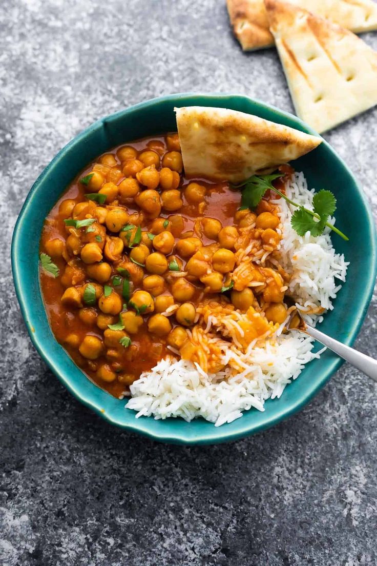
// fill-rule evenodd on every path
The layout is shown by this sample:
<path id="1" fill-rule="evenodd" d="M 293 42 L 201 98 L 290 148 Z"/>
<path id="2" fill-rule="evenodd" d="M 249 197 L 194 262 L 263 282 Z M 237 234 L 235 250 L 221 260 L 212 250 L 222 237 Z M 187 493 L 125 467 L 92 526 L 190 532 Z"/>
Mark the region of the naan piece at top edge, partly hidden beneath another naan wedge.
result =
<path id="1" fill-rule="evenodd" d="M 377 4 L 372 0 L 292 0 L 292 4 L 353 32 L 377 29 Z M 274 44 L 263 0 L 227 0 L 227 6 L 233 32 L 244 51 Z"/>

